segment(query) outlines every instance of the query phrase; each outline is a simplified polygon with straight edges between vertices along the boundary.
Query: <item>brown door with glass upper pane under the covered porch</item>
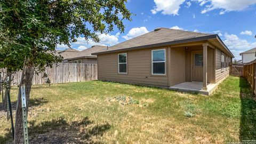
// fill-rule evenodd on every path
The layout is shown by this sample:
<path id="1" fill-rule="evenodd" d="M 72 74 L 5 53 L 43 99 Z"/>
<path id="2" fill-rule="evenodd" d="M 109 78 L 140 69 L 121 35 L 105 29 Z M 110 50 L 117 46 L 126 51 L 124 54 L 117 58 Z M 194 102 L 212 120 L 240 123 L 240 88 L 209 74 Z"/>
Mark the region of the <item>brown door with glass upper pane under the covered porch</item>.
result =
<path id="1" fill-rule="evenodd" d="M 193 52 L 192 81 L 203 82 L 203 52 Z"/>

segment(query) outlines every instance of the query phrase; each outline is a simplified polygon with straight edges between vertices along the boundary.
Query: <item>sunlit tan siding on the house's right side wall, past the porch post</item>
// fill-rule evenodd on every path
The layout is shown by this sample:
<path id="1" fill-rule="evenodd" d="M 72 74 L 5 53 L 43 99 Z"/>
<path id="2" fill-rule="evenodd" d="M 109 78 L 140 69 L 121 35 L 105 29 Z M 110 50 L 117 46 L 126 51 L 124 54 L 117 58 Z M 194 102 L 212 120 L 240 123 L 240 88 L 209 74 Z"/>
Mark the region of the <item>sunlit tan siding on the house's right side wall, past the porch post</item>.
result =
<path id="1" fill-rule="evenodd" d="M 224 55 L 226 55 L 224 53 Z M 226 58 L 226 57 L 225 57 Z M 224 59 L 226 62 L 226 59 Z M 219 49 L 215 49 L 215 83 L 218 83 L 221 79 L 225 78 L 229 75 L 229 66 L 221 70 L 221 51 Z"/>

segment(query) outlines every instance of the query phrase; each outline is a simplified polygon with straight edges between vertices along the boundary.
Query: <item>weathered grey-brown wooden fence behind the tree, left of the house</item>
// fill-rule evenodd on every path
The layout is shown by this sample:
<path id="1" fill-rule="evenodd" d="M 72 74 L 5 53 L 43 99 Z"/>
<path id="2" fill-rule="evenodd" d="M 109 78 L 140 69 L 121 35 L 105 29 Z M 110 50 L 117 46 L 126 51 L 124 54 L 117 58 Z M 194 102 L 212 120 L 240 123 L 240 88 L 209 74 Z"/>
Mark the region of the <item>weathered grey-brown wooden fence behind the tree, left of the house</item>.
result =
<path id="1" fill-rule="evenodd" d="M 51 84 L 85 82 L 98 79 L 97 64 L 58 63 L 58 67 L 57 65 L 52 68 L 47 67 L 45 72 Z M 12 85 L 19 84 L 21 73 L 22 71 L 18 71 L 13 76 Z M 6 74 L 4 73 L 4 75 Z M 46 78 L 43 78 L 43 73 L 35 74 L 32 84 L 46 84 Z"/>

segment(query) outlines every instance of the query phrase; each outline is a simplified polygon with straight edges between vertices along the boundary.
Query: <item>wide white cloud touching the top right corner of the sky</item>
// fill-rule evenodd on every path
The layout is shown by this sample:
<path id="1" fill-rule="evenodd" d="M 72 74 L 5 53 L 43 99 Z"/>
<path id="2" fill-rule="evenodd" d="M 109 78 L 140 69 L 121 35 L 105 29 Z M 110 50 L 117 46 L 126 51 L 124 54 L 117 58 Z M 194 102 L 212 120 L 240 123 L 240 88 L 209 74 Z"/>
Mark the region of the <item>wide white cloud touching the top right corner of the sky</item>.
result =
<path id="1" fill-rule="evenodd" d="M 206 13 L 215 9 L 221 9 L 220 14 L 229 11 L 241 11 L 246 9 L 249 5 L 256 4 L 255 0 L 193 0 L 199 5 L 204 6 L 201 13 Z"/>

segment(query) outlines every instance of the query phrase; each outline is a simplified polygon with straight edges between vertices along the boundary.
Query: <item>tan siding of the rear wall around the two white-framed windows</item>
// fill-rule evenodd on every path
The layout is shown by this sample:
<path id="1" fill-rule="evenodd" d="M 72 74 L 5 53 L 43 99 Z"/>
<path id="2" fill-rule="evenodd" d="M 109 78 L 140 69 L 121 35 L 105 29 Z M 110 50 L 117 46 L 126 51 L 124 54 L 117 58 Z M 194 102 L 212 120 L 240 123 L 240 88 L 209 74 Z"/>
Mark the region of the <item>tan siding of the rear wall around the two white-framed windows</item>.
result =
<path id="1" fill-rule="evenodd" d="M 166 47 L 159 49 L 163 48 L 166 49 Z M 118 53 L 98 55 L 98 78 L 100 80 L 168 86 L 167 70 L 165 76 L 151 75 L 151 49 L 122 53 L 127 53 L 127 74 L 118 74 Z"/>

